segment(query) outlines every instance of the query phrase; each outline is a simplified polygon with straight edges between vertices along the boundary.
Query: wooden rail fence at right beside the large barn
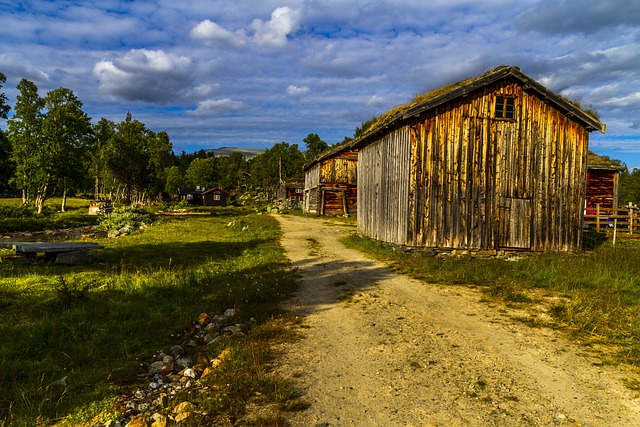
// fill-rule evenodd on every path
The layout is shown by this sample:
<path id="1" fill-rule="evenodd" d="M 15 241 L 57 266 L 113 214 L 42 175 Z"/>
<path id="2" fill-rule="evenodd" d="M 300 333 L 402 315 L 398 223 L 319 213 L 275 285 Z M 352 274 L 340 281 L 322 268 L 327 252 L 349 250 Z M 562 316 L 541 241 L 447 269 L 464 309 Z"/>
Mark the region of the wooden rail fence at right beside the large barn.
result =
<path id="1" fill-rule="evenodd" d="M 597 204 L 595 208 L 587 208 L 584 214 L 584 228 L 597 232 L 613 232 L 636 234 L 640 237 L 640 210 L 637 207 L 603 208 Z"/>

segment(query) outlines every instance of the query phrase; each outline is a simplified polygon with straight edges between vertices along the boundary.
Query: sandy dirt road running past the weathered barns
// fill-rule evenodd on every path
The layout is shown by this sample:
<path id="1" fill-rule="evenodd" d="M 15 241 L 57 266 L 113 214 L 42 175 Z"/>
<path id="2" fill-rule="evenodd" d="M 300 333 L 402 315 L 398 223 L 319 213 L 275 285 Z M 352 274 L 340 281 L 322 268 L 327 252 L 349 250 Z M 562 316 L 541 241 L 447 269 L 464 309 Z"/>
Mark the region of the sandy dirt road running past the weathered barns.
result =
<path id="1" fill-rule="evenodd" d="M 481 295 L 425 284 L 346 249 L 352 227 L 277 216 L 301 275 L 304 338 L 280 373 L 304 392 L 294 426 L 640 426 L 622 368 Z"/>

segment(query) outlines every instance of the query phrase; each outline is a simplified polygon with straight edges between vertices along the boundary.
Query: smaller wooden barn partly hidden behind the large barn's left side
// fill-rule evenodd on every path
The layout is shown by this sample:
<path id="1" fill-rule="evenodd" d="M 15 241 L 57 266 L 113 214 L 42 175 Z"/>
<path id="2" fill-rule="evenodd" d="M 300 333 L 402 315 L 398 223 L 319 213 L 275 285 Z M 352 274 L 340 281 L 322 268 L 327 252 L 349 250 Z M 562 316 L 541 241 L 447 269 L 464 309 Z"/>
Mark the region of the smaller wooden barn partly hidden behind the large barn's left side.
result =
<path id="1" fill-rule="evenodd" d="M 358 208 L 358 152 L 335 147 L 304 167 L 304 213 L 355 215 Z"/>

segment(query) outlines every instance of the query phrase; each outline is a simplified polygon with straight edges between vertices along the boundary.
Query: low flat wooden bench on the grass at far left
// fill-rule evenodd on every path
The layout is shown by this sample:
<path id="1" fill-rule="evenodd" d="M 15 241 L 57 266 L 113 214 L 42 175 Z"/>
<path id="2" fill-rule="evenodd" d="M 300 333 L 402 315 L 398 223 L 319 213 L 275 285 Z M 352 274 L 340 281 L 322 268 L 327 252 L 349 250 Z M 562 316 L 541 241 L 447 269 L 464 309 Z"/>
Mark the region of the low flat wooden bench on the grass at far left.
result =
<path id="1" fill-rule="evenodd" d="M 91 262 L 91 251 L 104 248 L 93 242 L 0 242 L 0 246 L 13 249 L 16 257 L 35 258 L 42 253 L 46 261 L 59 264 Z"/>

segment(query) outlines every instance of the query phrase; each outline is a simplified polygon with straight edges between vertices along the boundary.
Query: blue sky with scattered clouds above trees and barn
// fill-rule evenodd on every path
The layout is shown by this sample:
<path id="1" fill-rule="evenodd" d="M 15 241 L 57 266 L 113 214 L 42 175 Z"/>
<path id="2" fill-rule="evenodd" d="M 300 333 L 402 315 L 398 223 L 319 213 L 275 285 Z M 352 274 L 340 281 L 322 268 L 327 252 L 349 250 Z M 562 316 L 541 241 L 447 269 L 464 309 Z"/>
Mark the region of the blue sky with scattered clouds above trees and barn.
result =
<path id="1" fill-rule="evenodd" d="M 640 1 L 0 0 L 9 105 L 22 78 L 65 87 L 176 153 L 332 145 L 499 65 L 595 109 L 590 149 L 640 168 Z"/>

